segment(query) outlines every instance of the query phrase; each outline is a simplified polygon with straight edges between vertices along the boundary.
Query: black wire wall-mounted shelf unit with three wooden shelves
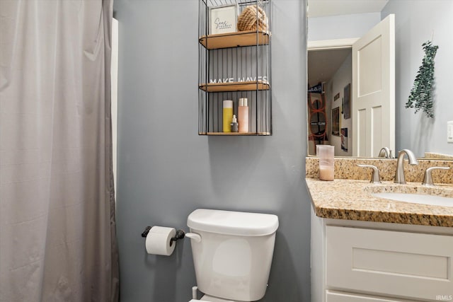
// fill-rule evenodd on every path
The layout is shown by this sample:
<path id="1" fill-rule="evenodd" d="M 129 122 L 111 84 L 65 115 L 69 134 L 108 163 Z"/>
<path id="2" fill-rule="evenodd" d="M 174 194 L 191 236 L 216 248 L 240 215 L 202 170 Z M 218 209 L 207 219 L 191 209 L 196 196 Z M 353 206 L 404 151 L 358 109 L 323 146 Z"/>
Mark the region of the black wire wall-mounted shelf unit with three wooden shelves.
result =
<path id="1" fill-rule="evenodd" d="M 272 134 L 270 1 L 199 0 L 198 134 Z M 210 33 L 212 9 L 231 5 L 236 6 L 238 16 L 251 6 L 258 6 L 256 18 L 264 25 L 252 30 Z M 237 117 L 239 98 L 248 99 L 248 132 L 223 132 L 222 103 L 232 100 Z"/>

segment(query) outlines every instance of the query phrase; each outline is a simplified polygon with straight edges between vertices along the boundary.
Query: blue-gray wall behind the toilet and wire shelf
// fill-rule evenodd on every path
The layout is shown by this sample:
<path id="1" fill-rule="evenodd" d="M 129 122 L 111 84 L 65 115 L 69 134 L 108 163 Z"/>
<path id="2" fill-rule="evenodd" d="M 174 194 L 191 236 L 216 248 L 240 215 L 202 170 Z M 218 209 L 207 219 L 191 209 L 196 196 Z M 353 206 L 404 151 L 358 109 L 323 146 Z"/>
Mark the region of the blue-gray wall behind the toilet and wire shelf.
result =
<path id="1" fill-rule="evenodd" d="M 197 208 L 277 214 L 263 301 L 309 301 L 306 1 L 273 1 L 273 136 L 197 135 L 196 0 L 115 0 L 119 20 L 117 236 L 122 302 L 190 300 L 190 243 L 147 255 L 145 226 Z"/>

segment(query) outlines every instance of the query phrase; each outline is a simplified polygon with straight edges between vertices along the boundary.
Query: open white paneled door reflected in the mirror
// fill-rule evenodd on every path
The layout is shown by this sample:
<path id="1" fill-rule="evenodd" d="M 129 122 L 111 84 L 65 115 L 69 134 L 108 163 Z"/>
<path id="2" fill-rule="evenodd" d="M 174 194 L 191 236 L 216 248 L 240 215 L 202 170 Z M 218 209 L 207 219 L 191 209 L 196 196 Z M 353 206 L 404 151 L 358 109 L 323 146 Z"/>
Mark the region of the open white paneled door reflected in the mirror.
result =
<path id="1" fill-rule="evenodd" d="M 352 45 L 352 156 L 395 152 L 395 17 Z"/>

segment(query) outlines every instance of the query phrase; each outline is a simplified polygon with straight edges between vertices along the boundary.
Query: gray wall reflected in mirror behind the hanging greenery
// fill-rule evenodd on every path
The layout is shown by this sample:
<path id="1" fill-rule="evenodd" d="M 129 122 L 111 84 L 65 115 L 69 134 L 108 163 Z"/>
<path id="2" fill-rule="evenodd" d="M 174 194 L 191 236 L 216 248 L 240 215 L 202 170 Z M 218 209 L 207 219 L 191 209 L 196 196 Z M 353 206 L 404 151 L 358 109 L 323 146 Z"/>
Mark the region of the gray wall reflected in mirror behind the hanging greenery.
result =
<path id="1" fill-rule="evenodd" d="M 412 149 L 453 154 L 447 144 L 447 121 L 453 120 L 453 1 L 390 0 L 382 18 L 395 14 L 396 39 L 396 150 Z M 435 57 L 435 118 L 414 115 L 405 104 L 423 59 L 423 42 L 439 45 Z"/>

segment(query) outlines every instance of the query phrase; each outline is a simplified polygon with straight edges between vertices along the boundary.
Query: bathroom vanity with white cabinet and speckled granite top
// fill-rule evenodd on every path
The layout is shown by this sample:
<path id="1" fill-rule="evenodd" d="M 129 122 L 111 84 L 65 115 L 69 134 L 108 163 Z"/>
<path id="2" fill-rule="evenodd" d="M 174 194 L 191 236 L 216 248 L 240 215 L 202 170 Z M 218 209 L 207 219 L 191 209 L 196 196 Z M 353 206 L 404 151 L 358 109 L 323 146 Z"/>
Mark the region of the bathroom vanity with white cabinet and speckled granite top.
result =
<path id="1" fill-rule="evenodd" d="M 306 185 L 311 197 L 311 301 L 453 301 L 453 204 L 372 195 L 397 187 L 453 197 L 453 184 L 429 188 L 420 182 L 373 185 L 369 180 L 307 178 Z"/>

